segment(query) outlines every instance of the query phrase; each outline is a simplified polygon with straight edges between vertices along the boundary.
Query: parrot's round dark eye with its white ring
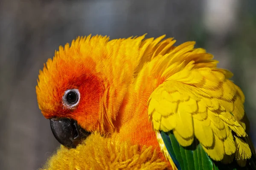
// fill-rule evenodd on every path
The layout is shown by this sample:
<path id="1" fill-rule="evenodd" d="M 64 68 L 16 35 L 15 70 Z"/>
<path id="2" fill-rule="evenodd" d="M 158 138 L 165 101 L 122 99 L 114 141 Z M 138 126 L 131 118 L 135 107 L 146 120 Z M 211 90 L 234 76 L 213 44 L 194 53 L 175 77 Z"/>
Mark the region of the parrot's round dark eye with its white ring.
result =
<path id="1" fill-rule="evenodd" d="M 80 93 L 78 89 L 66 90 L 62 97 L 63 105 L 70 109 L 78 105 L 79 101 L 80 101 Z"/>

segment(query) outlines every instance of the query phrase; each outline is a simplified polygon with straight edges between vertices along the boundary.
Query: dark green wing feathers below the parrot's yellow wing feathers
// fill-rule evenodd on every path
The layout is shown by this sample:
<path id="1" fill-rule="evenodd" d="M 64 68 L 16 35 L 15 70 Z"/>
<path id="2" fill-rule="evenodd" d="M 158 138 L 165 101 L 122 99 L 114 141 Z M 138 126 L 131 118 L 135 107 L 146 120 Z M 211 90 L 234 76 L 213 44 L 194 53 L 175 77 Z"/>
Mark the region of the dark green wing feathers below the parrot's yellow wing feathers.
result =
<path id="1" fill-rule="evenodd" d="M 248 160 L 246 167 L 239 167 L 235 160 L 231 164 L 223 164 L 213 161 L 196 139 L 189 147 L 183 147 L 172 131 L 160 131 L 160 134 L 177 170 L 256 170 L 255 155 Z"/>

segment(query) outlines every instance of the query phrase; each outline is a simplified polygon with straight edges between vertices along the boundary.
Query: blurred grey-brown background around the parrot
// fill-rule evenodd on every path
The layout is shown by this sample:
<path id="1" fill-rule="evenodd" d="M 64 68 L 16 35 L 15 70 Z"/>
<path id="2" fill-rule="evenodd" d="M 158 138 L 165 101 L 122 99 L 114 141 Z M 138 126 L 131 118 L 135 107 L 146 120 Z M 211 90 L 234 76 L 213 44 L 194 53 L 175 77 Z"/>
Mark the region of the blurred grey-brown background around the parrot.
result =
<path id="1" fill-rule="evenodd" d="M 58 142 L 38 109 L 39 69 L 77 36 L 194 40 L 234 73 L 256 145 L 255 0 L 0 0 L 0 169 L 35 170 Z"/>

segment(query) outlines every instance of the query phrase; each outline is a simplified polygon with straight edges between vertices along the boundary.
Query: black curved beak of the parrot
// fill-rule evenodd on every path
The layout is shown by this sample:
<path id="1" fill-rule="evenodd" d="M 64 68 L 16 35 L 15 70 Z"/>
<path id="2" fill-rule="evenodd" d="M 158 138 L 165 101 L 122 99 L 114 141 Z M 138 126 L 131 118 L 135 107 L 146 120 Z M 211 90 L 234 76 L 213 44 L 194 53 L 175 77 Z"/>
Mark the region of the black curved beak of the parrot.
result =
<path id="1" fill-rule="evenodd" d="M 50 125 L 54 137 L 68 148 L 76 148 L 81 139 L 90 135 L 73 119 L 50 119 Z"/>

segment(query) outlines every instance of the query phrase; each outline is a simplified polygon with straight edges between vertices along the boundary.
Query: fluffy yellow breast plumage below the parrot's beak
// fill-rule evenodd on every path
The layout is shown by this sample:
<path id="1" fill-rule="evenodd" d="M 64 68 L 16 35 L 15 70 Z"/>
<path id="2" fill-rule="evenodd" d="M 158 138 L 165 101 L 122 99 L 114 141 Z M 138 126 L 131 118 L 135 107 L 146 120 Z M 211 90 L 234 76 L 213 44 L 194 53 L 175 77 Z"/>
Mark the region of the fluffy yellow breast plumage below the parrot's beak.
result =
<path id="1" fill-rule="evenodd" d="M 61 146 L 41 170 L 164 170 L 167 163 L 157 157 L 152 147 L 123 142 L 118 137 L 106 139 L 91 134 L 76 149 Z"/>

